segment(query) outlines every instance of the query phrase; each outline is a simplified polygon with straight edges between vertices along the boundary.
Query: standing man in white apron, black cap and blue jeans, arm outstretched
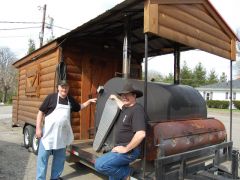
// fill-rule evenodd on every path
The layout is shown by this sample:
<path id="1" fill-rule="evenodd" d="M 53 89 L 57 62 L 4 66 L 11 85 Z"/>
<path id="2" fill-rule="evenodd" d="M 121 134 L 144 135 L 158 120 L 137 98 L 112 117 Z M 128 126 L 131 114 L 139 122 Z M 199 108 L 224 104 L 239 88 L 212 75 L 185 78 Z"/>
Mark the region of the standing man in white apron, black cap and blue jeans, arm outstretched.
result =
<path id="1" fill-rule="evenodd" d="M 49 155 L 53 155 L 51 180 L 59 180 L 66 159 L 66 146 L 74 139 L 70 123 L 71 111 L 78 112 L 96 99 L 89 99 L 79 104 L 68 95 L 69 85 L 66 81 L 58 84 L 58 93 L 46 97 L 39 108 L 36 121 L 36 136 L 39 142 L 37 158 L 37 180 L 46 180 Z M 45 118 L 44 118 L 45 117 Z M 44 127 L 41 127 L 44 119 Z"/>

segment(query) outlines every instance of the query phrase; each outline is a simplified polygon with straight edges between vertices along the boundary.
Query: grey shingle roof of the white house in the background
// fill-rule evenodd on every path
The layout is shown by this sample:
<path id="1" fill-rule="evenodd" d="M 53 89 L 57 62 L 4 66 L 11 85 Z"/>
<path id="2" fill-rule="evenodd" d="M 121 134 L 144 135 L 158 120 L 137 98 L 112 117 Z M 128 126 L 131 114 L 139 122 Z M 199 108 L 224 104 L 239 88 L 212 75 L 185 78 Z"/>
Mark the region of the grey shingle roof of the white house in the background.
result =
<path id="1" fill-rule="evenodd" d="M 240 79 L 236 79 L 236 80 L 233 80 L 232 81 L 232 87 L 234 89 L 240 89 Z M 209 85 L 206 85 L 206 86 L 200 86 L 200 87 L 197 87 L 196 89 L 229 89 L 230 88 L 230 81 L 228 82 L 222 82 L 222 83 L 215 83 L 215 84 L 209 84 Z"/>

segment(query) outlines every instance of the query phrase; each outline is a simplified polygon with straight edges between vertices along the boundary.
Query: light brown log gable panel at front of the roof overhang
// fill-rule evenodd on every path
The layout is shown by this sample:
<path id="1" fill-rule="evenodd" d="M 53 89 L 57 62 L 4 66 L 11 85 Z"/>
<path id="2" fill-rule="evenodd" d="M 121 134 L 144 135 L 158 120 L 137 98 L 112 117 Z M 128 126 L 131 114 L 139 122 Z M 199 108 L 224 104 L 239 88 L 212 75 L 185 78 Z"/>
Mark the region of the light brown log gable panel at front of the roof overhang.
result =
<path id="1" fill-rule="evenodd" d="M 149 0 L 144 13 L 145 32 L 236 60 L 233 34 L 205 1 Z"/>

